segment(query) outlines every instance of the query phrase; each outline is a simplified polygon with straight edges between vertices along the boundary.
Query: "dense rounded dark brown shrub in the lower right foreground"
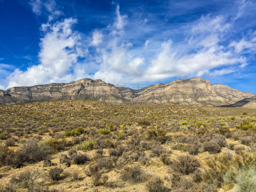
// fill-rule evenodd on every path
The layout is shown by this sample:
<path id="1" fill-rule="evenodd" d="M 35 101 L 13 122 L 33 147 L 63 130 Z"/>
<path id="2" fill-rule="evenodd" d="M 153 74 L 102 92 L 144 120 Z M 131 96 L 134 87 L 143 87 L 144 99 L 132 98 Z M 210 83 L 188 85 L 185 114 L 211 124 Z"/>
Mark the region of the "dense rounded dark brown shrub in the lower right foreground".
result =
<path id="1" fill-rule="evenodd" d="M 198 160 L 190 155 L 178 156 L 177 160 L 173 161 L 172 168 L 174 171 L 188 175 L 194 172 L 199 167 Z"/>

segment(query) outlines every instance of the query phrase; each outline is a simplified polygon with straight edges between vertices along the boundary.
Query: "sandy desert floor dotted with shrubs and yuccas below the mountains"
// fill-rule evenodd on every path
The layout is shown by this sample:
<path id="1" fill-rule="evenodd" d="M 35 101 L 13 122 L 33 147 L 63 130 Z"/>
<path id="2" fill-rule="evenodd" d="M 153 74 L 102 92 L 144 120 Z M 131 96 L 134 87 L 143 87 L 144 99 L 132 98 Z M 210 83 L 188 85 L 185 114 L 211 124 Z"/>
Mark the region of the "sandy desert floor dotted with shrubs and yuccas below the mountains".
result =
<path id="1" fill-rule="evenodd" d="M 0 191 L 256 191 L 256 109 L 0 105 Z"/>

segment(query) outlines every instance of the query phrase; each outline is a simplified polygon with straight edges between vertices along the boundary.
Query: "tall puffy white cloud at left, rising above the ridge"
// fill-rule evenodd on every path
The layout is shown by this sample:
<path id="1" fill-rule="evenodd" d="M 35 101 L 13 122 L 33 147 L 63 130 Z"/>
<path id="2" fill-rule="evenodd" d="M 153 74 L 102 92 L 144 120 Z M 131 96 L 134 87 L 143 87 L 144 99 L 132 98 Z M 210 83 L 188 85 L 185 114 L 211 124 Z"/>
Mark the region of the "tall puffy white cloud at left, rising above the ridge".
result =
<path id="1" fill-rule="evenodd" d="M 81 44 L 81 36 L 72 30 L 76 22 L 76 19 L 69 18 L 44 28 L 45 36 L 41 38 L 39 52 L 41 63 L 28 67 L 26 71 L 15 69 L 7 77 L 8 87 L 73 80 L 68 72 L 76 67 L 78 57 L 86 54 L 86 49 Z M 73 78 L 76 79 L 76 76 Z"/>

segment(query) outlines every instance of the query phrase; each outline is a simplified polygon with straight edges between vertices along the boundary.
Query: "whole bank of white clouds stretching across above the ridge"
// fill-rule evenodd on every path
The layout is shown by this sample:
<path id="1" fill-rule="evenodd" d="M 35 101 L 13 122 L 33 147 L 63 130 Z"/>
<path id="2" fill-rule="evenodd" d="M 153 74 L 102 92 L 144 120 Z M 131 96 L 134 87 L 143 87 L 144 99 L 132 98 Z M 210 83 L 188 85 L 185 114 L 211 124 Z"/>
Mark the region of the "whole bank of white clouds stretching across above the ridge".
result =
<path id="1" fill-rule="evenodd" d="M 60 14 L 55 13 L 57 6 L 49 3 L 52 1 L 48 2 L 49 7 L 40 4 L 39 0 L 36 2 L 52 15 Z M 36 14 L 38 6 L 32 6 Z M 119 4 L 116 5 L 114 23 L 92 30 L 92 38 L 73 30 L 77 19 L 68 18 L 55 24 L 50 24 L 49 20 L 40 28 L 44 35 L 38 53 L 40 64 L 25 71 L 15 69 L 7 77 L 8 87 L 68 83 L 82 78 L 127 84 L 188 75 L 220 76 L 236 72 L 237 66 L 241 70 L 248 62 L 243 53 L 256 50 L 255 32 L 240 40 L 227 40 L 227 34 L 234 29 L 234 20 L 228 20 L 223 15 L 206 15 L 190 23 L 185 30 L 188 35 L 180 43 L 161 38 L 161 34 L 157 33 L 150 37 L 150 41 L 147 39 L 139 45 L 130 31 L 124 30 L 128 17 L 120 13 Z M 147 30 L 150 31 L 149 27 Z M 84 39 L 90 39 L 90 42 L 86 44 Z M 222 41 L 229 43 L 224 45 Z M 98 45 L 103 43 L 103 47 L 99 48 Z M 156 48 L 154 52 L 146 49 L 149 43 Z M 90 45 L 95 46 L 96 51 L 88 49 Z M 93 69 L 92 73 L 89 73 L 90 69 Z"/>

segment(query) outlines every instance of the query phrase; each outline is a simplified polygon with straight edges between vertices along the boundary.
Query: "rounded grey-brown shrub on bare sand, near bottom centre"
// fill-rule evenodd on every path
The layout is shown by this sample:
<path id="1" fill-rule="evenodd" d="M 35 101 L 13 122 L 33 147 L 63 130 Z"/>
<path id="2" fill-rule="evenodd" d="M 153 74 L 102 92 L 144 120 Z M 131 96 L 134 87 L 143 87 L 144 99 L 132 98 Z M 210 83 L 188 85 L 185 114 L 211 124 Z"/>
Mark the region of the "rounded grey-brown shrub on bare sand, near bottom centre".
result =
<path id="1" fill-rule="evenodd" d="M 140 182 L 142 180 L 140 165 L 125 166 L 121 171 L 121 179 L 130 183 Z"/>

